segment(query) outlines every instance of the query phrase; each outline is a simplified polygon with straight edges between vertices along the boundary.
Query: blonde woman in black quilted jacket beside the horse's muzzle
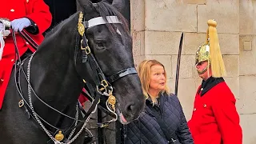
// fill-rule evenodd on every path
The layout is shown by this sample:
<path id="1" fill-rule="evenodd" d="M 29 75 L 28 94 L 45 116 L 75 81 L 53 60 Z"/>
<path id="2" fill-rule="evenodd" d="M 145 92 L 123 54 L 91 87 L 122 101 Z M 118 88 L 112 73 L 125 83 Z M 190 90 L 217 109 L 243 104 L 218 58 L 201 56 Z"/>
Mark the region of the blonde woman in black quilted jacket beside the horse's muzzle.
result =
<path id="1" fill-rule="evenodd" d="M 194 143 L 182 106 L 170 94 L 166 70 L 157 60 L 145 60 L 138 67 L 146 98 L 140 118 L 125 126 L 126 144 L 192 144 Z"/>

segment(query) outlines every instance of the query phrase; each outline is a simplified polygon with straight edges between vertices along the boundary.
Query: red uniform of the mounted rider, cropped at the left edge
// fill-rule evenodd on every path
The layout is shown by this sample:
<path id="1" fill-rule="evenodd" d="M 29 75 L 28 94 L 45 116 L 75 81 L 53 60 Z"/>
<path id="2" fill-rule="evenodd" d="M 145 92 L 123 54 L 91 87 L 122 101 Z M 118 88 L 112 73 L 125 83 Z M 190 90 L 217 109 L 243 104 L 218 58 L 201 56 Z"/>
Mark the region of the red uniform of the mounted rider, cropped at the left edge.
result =
<path id="1" fill-rule="evenodd" d="M 12 21 L 24 17 L 30 18 L 38 26 L 39 34 L 30 34 L 30 37 L 40 44 L 43 40 L 42 33 L 50 26 L 52 19 L 49 7 L 43 0 L 6 0 L 1 2 L 0 18 L 9 18 Z M 16 34 L 16 38 L 19 54 L 24 54 L 28 48 L 34 51 L 21 36 Z M 5 39 L 5 42 L 0 61 L 0 109 L 14 64 L 14 40 L 11 34 Z"/>

